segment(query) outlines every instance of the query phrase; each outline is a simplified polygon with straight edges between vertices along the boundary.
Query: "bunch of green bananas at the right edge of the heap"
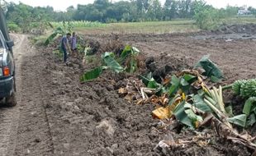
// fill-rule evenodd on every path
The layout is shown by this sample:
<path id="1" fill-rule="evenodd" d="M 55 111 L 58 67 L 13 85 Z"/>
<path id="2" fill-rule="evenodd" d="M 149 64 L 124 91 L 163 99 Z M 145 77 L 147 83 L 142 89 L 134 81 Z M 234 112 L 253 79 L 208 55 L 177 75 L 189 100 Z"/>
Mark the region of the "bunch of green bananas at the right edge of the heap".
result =
<path id="1" fill-rule="evenodd" d="M 256 96 L 256 79 L 236 80 L 232 89 L 244 99 Z"/>

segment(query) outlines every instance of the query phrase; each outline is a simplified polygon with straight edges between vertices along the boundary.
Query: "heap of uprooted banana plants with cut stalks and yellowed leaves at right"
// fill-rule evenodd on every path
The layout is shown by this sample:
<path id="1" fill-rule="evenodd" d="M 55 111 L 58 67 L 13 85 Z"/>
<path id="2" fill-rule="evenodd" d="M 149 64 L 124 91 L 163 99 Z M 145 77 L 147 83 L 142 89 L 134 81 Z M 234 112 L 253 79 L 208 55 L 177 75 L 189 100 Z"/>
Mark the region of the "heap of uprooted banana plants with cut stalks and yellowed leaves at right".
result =
<path id="1" fill-rule="evenodd" d="M 245 127 L 255 123 L 256 81 L 243 80 L 231 85 L 236 90 L 236 94 L 249 98 L 244 104 L 244 114 L 234 116 L 232 108 L 223 101 L 223 88 L 228 89 L 229 86 L 219 86 L 217 89 L 214 86 L 208 87 L 205 82 L 206 78 L 210 78 L 211 81 L 219 80 L 223 77 L 222 72 L 212 67 L 214 64 L 209 63 L 206 57 L 201 61 L 204 62 L 201 63 L 204 69 L 202 72 L 184 70 L 166 77 L 161 84 L 157 83 L 150 73 L 148 76 L 141 76 L 145 87 L 138 89 L 141 99 L 136 100 L 135 103 L 154 103 L 157 108 L 152 112 L 153 117 L 172 118 L 191 129 L 212 123 L 212 129 L 220 137 L 255 149 L 254 138 L 238 134 L 233 124 Z M 204 76 L 201 73 L 204 73 Z M 122 93 L 129 95 L 131 91 L 127 90 Z"/>

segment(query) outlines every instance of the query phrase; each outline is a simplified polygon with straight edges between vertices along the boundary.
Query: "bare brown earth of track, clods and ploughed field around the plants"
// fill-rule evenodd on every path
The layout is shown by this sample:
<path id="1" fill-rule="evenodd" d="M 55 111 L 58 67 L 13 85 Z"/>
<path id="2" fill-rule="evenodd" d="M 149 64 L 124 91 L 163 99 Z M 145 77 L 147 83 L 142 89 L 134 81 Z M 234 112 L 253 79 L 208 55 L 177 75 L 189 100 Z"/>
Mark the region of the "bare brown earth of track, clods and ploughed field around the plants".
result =
<path id="1" fill-rule="evenodd" d="M 111 36 L 92 36 L 106 42 Z M 66 66 L 50 48 L 33 48 L 26 35 L 15 34 L 17 99 L 14 108 L 0 108 L 0 155 L 164 155 L 154 147 L 162 136 L 152 119 L 154 106 L 137 106 L 117 94 L 125 77 L 79 83 L 77 59 Z M 192 66 L 205 54 L 224 71 L 230 83 L 256 77 L 254 39 L 194 39 L 168 34 L 130 34 L 126 43 L 162 64 Z M 180 62 L 177 62 L 180 60 Z M 108 80 L 116 80 L 116 83 Z M 177 133 L 187 138 L 192 131 Z M 165 155 L 250 155 L 253 151 L 227 140 L 212 145 L 170 149 Z"/>

